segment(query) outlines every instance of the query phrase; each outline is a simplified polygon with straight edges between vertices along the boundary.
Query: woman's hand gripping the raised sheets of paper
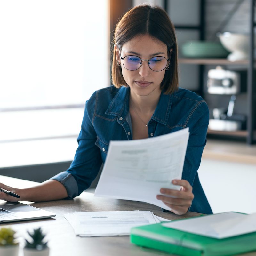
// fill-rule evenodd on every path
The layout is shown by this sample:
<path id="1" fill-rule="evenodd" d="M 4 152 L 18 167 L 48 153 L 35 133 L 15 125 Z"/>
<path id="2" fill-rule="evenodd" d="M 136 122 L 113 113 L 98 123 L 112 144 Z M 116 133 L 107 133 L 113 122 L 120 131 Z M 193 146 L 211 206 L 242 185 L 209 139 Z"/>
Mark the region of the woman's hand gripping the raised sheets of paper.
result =
<path id="1" fill-rule="evenodd" d="M 160 193 L 166 194 L 157 195 L 156 198 L 162 200 L 165 205 L 170 207 L 171 212 L 182 215 L 188 212 L 189 207 L 194 199 L 194 194 L 192 193 L 192 186 L 187 180 L 172 180 L 172 184 L 181 186 L 180 190 L 161 188 Z M 169 197 L 173 196 L 173 197 Z"/>

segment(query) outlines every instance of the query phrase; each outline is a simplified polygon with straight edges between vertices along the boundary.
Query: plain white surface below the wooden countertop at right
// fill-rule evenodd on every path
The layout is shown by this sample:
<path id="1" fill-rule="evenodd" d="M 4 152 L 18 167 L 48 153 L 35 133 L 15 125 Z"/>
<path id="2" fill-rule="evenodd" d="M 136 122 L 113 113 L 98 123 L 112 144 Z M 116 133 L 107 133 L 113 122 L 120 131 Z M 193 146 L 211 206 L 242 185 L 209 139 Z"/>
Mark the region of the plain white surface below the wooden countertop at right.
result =
<path id="1" fill-rule="evenodd" d="M 198 173 L 213 213 L 256 212 L 255 164 L 203 158 Z"/>

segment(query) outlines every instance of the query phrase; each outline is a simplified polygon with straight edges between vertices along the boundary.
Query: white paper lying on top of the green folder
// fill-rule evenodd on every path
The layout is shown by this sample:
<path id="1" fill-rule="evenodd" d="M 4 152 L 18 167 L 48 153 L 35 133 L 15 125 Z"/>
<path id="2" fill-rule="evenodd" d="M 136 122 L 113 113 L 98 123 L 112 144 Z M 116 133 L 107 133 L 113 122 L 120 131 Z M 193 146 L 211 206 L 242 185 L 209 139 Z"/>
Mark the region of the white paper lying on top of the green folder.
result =
<path id="1" fill-rule="evenodd" d="M 256 213 L 247 215 L 238 212 L 224 212 L 163 223 L 162 225 L 193 234 L 221 239 L 255 232 Z"/>

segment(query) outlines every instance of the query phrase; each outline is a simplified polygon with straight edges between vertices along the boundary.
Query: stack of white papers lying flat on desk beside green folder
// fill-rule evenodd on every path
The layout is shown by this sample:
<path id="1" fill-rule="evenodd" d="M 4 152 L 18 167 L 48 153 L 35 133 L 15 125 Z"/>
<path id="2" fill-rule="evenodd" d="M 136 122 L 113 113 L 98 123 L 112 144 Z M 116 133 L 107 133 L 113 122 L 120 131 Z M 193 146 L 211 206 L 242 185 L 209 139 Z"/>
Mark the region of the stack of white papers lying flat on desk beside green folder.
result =
<path id="1" fill-rule="evenodd" d="M 74 212 L 64 217 L 77 236 L 127 236 L 132 227 L 170 221 L 150 211 Z"/>

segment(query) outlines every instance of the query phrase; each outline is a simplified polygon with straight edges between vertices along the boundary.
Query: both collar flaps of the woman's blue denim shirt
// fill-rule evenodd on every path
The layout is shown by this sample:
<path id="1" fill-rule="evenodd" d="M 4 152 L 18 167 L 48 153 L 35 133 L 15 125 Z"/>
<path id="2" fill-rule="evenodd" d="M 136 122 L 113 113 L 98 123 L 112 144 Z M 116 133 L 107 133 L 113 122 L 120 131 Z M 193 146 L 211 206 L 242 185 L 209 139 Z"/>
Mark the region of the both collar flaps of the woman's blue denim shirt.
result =
<path id="1" fill-rule="evenodd" d="M 129 112 L 129 95 L 130 87 L 122 86 L 110 102 L 105 114 L 117 116 L 118 118 L 122 117 L 124 122 Z M 152 119 L 158 123 L 166 125 L 170 115 L 171 106 L 172 94 L 165 95 L 162 91 Z"/>

